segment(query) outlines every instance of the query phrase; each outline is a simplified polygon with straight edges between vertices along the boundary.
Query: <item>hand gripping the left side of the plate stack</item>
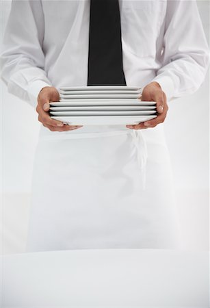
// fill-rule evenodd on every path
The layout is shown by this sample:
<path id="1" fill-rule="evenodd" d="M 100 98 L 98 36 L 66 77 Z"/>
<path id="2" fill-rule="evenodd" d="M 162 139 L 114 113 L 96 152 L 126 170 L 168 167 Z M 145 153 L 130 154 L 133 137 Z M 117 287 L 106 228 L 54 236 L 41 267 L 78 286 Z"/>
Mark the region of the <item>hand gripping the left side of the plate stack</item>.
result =
<path id="1" fill-rule="evenodd" d="M 60 95 L 54 87 L 44 87 L 38 94 L 38 105 L 36 112 L 38 112 L 38 120 L 47 127 L 50 131 L 71 131 L 78 129 L 82 125 L 64 125 L 61 121 L 55 120 L 49 116 L 49 103 L 51 101 L 59 101 Z"/>

